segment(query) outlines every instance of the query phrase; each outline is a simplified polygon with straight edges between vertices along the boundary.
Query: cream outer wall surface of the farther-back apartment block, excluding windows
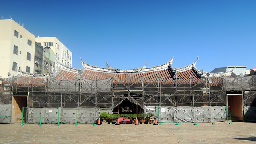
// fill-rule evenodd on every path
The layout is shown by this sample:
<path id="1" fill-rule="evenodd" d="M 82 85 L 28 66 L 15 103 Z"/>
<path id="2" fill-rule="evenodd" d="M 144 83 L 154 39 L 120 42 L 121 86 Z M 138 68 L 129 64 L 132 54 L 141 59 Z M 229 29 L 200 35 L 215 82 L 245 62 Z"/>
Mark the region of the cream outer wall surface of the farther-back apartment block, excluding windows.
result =
<path id="1" fill-rule="evenodd" d="M 49 46 L 53 52 L 55 53 L 55 56 L 56 54 L 59 54 L 59 59 L 57 59 L 57 61 L 61 64 L 64 64 L 64 65 L 67 65 L 65 64 L 65 60 L 67 60 L 67 56 L 65 55 L 65 52 L 68 51 L 68 54 L 69 54 L 69 59 L 67 60 L 67 62 L 69 62 L 69 66 L 72 67 L 72 52 L 61 42 L 59 41 L 56 37 L 36 37 L 35 38 L 35 41 L 38 42 L 38 43 L 41 43 L 41 45 L 43 47 L 45 47 L 45 42 L 53 42 L 53 46 Z M 56 43 L 59 44 L 59 49 L 56 48 Z M 64 54 L 63 54 L 63 50 L 64 50 Z M 70 56 L 71 56 L 71 59 L 70 59 Z M 62 62 L 62 58 L 64 59 L 64 61 Z M 55 60 L 55 63 L 56 60 Z M 56 69 L 56 66 L 55 66 L 55 69 Z"/>

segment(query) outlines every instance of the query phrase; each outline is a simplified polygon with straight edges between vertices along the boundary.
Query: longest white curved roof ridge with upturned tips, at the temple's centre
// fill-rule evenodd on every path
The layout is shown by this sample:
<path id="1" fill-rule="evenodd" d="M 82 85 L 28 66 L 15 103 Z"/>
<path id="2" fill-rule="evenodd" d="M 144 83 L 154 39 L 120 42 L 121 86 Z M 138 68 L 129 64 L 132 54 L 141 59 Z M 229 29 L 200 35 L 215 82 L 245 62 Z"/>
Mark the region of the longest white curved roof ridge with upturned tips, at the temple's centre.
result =
<path id="1" fill-rule="evenodd" d="M 162 69 L 168 68 L 169 65 L 173 64 L 173 58 L 172 58 L 171 60 L 169 60 L 165 64 L 161 64 L 161 65 L 153 66 L 153 67 L 149 67 L 149 68 L 146 68 L 146 65 L 147 65 L 147 62 L 146 62 L 146 64 L 144 66 L 140 67 L 140 68 L 135 68 L 135 69 L 116 69 L 116 68 L 112 68 L 111 66 L 108 66 L 108 65 L 107 65 L 108 68 L 93 66 L 91 64 L 87 64 L 86 62 L 84 62 L 81 57 L 80 57 L 80 59 L 82 61 L 83 67 L 88 68 L 90 70 L 103 71 L 103 72 L 120 72 L 120 73 L 122 73 L 122 72 L 123 73 L 148 72 L 148 71 L 162 70 Z M 108 63 L 106 62 L 106 64 L 108 64 Z"/>

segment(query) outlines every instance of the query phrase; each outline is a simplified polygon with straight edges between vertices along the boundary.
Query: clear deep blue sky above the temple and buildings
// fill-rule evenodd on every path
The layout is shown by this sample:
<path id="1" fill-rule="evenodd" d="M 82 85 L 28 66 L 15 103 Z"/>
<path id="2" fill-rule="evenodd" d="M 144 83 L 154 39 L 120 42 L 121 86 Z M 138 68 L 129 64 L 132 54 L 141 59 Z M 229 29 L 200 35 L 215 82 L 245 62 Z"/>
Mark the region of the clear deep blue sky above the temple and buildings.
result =
<path id="1" fill-rule="evenodd" d="M 73 67 L 82 59 L 114 68 L 168 62 L 193 63 L 211 72 L 223 66 L 256 68 L 255 0 L 88 0 L 1 2 L 10 16 L 35 36 L 56 36 L 71 52 Z"/>

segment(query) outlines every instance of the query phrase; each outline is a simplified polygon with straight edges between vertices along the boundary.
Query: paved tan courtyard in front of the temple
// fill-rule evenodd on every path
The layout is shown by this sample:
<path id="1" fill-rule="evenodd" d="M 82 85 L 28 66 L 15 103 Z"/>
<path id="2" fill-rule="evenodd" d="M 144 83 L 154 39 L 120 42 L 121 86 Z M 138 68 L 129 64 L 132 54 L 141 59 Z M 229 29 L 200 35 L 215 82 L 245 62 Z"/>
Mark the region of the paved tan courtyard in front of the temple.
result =
<path id="1" fill-rule="evenodd" d="M 0 124 L 0 144 L 255 144 L 256 123 Z"/>

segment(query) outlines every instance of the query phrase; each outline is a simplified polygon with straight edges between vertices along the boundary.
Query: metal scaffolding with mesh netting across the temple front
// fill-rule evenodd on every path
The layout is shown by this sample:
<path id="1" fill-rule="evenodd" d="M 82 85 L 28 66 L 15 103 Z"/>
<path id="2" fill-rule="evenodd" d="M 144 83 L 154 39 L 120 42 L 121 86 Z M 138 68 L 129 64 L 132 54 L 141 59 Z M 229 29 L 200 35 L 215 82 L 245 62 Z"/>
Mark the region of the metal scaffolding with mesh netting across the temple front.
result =
<path id="1" fill-rule="evenodd" d="M 63 78 L 64 79 L 64 78 Z M 246 106 L 255 105 L 255 76 L 219 76 L 179 80 L 174 76 L 167 81 L 161 76 L 142 75 L 135 80 L 108 78 L 89 80 L 55 80 L 28 76 L 26 83 L 18 77 L 2 80 L 0 102 L 11 102 L 11 95 L 28 95 L 29 107 L 105 107 L 114 108 L 128 99 L 141 106 L 223 106 L 227 105 L 227 92 L 242 92 Z M 114 81 L 114 82 L 113 82 Z M 3 90 L 3 91 L 2 91 Z M 8 93 L 8 94 L 7 94 Z M 6 94 L 9 96 L 6 96 Z M 8 97 L 8 98 L 7 98 Z"/>

